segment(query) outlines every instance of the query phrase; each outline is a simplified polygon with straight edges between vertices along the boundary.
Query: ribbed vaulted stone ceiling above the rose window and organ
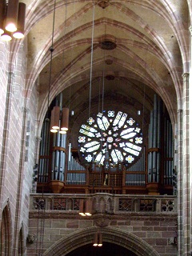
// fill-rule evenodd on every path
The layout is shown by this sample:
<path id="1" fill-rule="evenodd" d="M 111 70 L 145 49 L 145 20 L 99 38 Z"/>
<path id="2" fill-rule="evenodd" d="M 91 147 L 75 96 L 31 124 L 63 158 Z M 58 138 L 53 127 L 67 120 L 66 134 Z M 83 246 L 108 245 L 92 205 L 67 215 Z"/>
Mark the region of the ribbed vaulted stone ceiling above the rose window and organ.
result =
<path id="1" fill-rule="evenodd" d="M 63 106 L 74 110 L 74 133 L 102 104 L 132 116 L 141 110 L 144 116 L 138 118 L 147 124 L 154 93 L 175 122 L 189 62 L 187 0 L 22 2 L 27 5 L 27 86 L 37 86 L 39 119 L 45 117 L 50 88 L 50 102 L 62 92 Z"/>

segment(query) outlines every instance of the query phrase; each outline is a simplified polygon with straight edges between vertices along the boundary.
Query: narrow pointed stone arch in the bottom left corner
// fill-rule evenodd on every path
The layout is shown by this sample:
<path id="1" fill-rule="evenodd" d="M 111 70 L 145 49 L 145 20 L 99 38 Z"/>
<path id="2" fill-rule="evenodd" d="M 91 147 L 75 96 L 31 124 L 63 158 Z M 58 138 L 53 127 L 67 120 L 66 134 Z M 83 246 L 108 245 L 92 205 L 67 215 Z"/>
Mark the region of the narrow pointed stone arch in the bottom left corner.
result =
<path id="1" fill-rule="evenodd" d="M 7 202 L 4 210 L 2 211 L 2 223 L 0 229 L 0 254 L 2 256 L 9 256 L 11 253 L 11 242 L 12 242 L 12 235 L 11 235 L 11 217 L 10 217 L 10 205 Z"/>

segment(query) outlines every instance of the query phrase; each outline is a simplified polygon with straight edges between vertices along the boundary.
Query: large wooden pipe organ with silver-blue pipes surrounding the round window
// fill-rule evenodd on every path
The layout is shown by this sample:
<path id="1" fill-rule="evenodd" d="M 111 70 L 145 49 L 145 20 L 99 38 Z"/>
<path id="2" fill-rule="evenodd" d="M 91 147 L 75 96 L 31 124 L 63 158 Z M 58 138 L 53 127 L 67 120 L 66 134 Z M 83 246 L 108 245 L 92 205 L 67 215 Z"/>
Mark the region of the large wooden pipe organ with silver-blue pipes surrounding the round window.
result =
<path id="1" fill-rule="evenodd" d="M 62 98 L 58 106 L 62 106 Z M 128 168 L 123 162 L 103 165 L 94 161 L 82 165 L 71 150 L 67 134 L 51 134 L 49 122 L 42 127 L 38 166 L 38 192 L 50 193 L 112 193 L 172 194 L 173 193 L 173 132 L 170 118 L 161 98 L 154 95 L 150 112 L 148 142 L 141 157 Z M 66 147 L 66 145 L 68 145 Z M 106 168 L 107 166 L 107 168 Z"/>

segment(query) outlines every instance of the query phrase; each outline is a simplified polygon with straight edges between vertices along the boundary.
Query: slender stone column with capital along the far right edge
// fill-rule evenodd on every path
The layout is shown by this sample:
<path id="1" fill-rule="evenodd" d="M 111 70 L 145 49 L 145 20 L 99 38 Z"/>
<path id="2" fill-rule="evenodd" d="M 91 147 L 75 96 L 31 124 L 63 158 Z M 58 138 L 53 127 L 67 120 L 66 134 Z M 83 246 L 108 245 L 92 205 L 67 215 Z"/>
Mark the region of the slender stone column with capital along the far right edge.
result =
<path id="1" fill-rule="evenodd" d="M 190 255 L 190 113 L 189 73 L 184 73 L 182 94 L 182 256 Z"/>

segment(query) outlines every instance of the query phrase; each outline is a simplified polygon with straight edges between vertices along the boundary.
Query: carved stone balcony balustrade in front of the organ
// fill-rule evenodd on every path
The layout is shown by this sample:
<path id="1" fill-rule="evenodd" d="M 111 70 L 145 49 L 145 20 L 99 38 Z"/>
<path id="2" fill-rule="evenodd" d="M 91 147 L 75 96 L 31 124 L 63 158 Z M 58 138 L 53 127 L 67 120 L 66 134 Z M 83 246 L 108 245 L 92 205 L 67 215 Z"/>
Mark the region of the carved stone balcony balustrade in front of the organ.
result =
<path id="1" fill-rule="evenodd" d="M 177 215 L 177 198 L 168 195 L 129 194 L 30 194 L 30 213 L 79 213 L 81 201 L 87 202 L 95 214 Z"/>

